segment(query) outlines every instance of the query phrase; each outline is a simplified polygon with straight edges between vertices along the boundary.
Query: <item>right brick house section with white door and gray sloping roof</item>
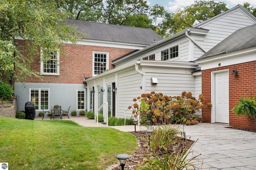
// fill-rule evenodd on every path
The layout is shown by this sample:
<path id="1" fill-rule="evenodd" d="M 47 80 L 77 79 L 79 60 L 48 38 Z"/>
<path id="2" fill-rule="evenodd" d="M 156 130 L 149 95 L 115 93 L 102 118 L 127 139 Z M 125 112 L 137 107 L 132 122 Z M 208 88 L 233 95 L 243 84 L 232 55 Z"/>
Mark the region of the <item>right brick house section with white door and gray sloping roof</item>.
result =
<path id="1" fill-rule="evenodd" d="M 213 106 L 203 109 L 204 121 L 254 129 L 254 119 L 238 117 L 232 109 L 240 96 L 255 97 L 256 24 L 238 29 L 195 63 L 201 65 L 202 94 Z"/>

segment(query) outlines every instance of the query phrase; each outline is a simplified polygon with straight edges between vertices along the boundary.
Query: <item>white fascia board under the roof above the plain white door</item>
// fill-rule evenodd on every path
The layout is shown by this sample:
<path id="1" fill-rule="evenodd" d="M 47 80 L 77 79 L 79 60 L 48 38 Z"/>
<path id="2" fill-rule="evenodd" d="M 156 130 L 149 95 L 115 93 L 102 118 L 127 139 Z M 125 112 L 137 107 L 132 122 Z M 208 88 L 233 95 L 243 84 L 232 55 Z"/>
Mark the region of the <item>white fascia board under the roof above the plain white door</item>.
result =
<path id="1" fill-rule="evenodd" d="M 212 68 L 217 68 L 219 63 L 220 66 L 223 67 L 255 61 L 255 55 L 256 47 L 253 47 L 250 49 L 240 50 L 233 53 L 208 57 L 206 59 L 194 62 L 201 65 L 201 70 L 208 70 Z"/>

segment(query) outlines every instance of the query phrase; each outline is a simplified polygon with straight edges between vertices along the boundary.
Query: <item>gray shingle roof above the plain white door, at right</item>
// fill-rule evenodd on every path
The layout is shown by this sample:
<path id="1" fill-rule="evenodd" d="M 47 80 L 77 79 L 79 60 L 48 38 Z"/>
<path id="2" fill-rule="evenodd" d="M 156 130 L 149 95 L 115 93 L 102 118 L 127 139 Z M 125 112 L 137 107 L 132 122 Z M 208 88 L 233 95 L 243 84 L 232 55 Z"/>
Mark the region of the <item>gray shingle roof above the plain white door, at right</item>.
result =
<path id="1" fill-rule="evenodd" d="M 251 47 L 256 47 L 256 24 L 238 29 L 196 61 L 206 59 L 208 57 L 214 57 L 220 54 L 248 49 Z"/>

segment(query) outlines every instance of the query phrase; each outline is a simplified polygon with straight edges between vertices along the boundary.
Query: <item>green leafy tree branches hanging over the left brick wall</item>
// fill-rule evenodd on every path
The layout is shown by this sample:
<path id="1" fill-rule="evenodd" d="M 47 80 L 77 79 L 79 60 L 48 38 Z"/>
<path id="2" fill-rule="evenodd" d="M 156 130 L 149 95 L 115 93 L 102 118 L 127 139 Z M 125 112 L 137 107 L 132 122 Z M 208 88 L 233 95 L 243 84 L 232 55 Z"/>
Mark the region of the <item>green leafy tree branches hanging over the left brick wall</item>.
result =
<path id="1" fill-rule="evenodd" d="M 34 57 L 40 56 L 38 48 L 61 49 L 63 53 L 64 42 L 81 39 L 74 27 L 66 25 L 68 15 L 56 9 L 54 0 L 0 0 L 0 69 L 8 70 L 4 74 L 12 73 L 15 65 L 17 80 L 39 77 L 38 72 L 30 70 Z M 25 43 L 16 43 L 17 39 Z"/>

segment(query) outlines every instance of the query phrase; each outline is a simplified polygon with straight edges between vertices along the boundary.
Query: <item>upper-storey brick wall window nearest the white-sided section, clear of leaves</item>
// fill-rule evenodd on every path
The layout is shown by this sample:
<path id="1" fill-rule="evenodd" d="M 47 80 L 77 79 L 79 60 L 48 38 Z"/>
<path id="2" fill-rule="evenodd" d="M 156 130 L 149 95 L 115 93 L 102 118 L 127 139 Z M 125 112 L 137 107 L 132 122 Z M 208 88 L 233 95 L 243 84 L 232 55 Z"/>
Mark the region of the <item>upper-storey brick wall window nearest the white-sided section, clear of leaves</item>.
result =
<path id="1" fill-rule="evenodd" d="M 108 70 L 108 53 L 93 52 L 93 75 Z"/>

